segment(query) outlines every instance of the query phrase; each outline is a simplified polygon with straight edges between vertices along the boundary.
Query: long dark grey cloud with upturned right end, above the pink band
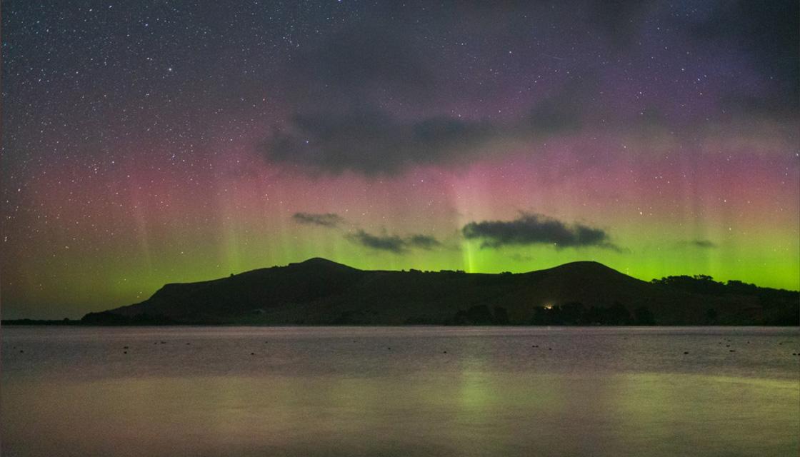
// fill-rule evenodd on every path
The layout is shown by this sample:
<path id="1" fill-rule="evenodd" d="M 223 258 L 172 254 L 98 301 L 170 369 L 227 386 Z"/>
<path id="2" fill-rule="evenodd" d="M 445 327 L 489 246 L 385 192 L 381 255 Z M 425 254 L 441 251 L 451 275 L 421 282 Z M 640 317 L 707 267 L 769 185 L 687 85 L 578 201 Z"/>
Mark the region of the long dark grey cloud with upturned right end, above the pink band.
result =
<path id="1" fill-rule="evenodd" d="M 452 165 L 485 157 L 498 143 L 567 134 L 582 126 L 582 110 L 598 87 L 586 71 L 566 79 L 526 117 L 481 122 L 453 117 L 401 120 L 385 110 L 297 114 L 262 146 L 268 162 L 339 174 L 398 174 L 413 166 Z M 502 148 L 501 148 L 502 149 Z"/>

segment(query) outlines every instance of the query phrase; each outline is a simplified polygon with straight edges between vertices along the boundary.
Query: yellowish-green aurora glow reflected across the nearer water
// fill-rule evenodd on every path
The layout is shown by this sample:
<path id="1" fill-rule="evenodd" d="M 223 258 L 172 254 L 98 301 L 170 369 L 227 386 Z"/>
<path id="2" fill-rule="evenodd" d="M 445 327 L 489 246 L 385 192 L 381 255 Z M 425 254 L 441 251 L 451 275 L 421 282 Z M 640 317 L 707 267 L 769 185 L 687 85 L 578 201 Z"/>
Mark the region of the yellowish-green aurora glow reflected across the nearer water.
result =
<path id="1" fill-rule="evenodd" d="M 490 371 L 3 384 L 29 455 L 797 455 L 794 381 Z"/>

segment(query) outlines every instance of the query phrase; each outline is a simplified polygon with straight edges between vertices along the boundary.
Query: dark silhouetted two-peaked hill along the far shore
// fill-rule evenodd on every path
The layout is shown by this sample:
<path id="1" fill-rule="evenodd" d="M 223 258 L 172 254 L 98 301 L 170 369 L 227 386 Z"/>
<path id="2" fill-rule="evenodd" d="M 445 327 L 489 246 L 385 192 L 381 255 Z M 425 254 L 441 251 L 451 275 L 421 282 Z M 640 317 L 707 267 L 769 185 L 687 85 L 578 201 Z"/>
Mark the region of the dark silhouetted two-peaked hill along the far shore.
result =
<path id="1" fill-rule="evenodd" d="M 326 259 L 200 283 L 90 313 L 87 324 L 798 325 L 798 292 L 716 283 L 650 283 L 595 262 L 528 273 L 362 271 Z"/>

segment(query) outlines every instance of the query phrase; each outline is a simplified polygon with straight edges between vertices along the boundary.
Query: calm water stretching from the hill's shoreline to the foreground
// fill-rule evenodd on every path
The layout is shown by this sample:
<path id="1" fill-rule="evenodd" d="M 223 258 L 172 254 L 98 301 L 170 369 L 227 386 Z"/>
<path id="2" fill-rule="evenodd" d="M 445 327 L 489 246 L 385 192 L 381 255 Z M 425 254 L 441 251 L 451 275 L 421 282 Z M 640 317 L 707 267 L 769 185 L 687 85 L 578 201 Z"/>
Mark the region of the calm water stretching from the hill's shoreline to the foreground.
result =
<path id="1" fill-rule="evenodd" d="M 798 328 L 4 327 L 0 450 L 798 455 L 793 352 Z"/>

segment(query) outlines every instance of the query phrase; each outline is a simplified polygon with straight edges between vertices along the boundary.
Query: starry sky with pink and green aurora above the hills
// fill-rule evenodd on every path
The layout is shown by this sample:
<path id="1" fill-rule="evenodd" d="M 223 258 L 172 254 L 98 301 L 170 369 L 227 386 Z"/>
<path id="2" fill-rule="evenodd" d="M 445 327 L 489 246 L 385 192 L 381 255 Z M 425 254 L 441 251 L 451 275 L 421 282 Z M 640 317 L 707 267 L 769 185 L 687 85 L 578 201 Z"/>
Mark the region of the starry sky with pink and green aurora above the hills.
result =
<path id="1" fill-rule="evenodd" d="M 800 288 L 796 0 L 0 13 L 4 318 L 315 256 Z"/>

